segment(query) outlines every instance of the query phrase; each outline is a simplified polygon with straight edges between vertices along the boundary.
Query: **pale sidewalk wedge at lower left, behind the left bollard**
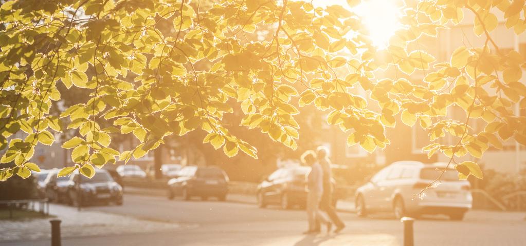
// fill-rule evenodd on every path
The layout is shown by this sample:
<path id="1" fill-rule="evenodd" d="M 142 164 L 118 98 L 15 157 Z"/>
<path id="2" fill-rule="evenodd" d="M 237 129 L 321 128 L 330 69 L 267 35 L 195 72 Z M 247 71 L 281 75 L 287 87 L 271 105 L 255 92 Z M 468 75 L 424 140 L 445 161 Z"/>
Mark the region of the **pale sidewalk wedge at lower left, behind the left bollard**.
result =
<path id="1" fill-rule="evenodd" d="M 176 223 L 139 220 L 110 213 L 81 210 L 49 204 L 49 214 L 62 220 L 63 238 L 109 236 L 130 233 L 174 231 L 188 228 Z M 31 220 L 0 220 L 0 242 L 18 240 L 46 240 L 51 238 L 50 218 Z"/>

